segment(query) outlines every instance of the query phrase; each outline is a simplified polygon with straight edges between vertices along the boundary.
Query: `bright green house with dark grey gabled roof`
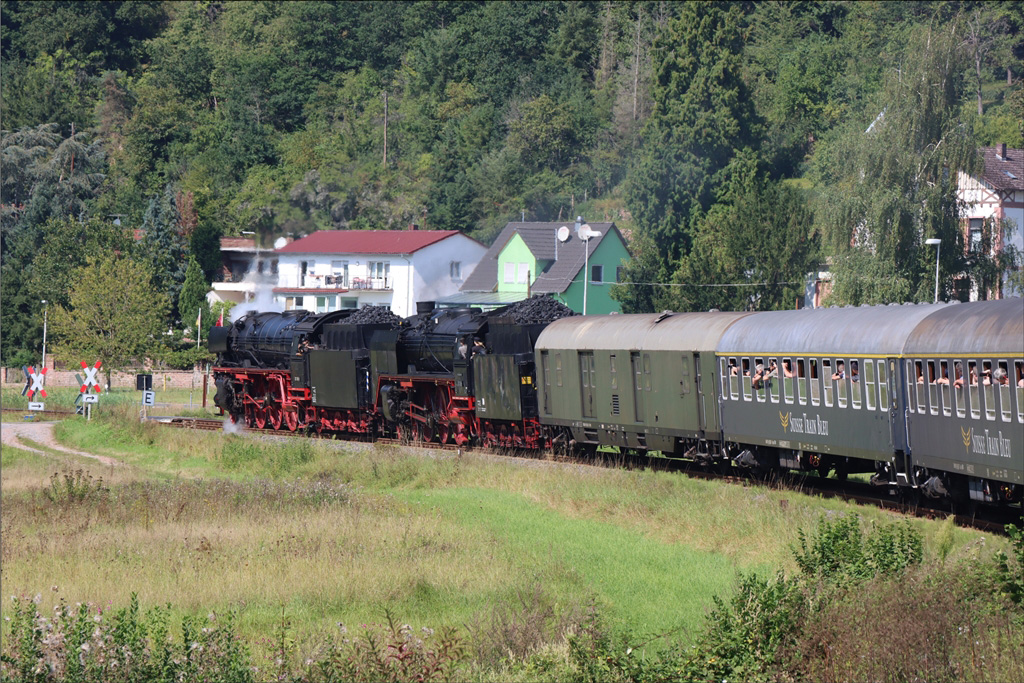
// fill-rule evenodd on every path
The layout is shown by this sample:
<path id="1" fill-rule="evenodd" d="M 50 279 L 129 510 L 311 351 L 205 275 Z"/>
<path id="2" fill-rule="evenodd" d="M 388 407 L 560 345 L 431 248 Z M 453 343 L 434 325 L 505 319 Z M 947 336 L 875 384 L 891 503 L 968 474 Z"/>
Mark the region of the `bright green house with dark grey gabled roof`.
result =
<path id="1" fill-rule="evenodd" d="M 614 223 L 508 223 L 460 294 L 439 303 L 500 306 L 547 294 L 582 313 L 586 293 L 587 313 L 621 312 L 609 291 L 629 258 Z"/>

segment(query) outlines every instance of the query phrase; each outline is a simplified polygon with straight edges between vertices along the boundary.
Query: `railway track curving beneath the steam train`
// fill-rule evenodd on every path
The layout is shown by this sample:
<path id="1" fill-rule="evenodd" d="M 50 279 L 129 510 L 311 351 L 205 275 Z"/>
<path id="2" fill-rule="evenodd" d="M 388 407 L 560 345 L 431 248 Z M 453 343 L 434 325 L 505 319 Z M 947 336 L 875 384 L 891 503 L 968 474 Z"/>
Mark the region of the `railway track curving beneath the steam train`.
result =
<path id="1" fill-rule="evenodd" d="M 177 427 L 182 429 L 198 429 L 205 431 L 218 431 L 223 429 L 223 420 L 212 420 L 203 418 L 151 418 L 153 421 L 161 422 L 169 427 Z M 269 434 L 273 436 L 315 436 L 315 434 L 307 434 L 304 430 L 299 431 L 282 431 L 275 429 L 253 429 L 250 427 L 245 428 L 246 432 L 256 433 L 256 434 Z M 365 441 L 367 439 L 350 438 L 347 440 L 353 441 Z M 385 445 L 395 445 L 404 447 L 417 447 L 426 449 L 430 451 L 451 451 L 458 453 L 478 453 L 484 454 L 490 457 L 498 458 L 509 458 L 515 460 L 521 460 L 522 455 L 514 452 L 510 452 L 506 449 L 488 449 L 488 447 L 473 447 L 469 449 L 466 446 L 458 446 L 454 443 L 436 443 L 436 442 L 425 442 L 425 441 L 411 441 L 407 439 L 397 438 L 378 438 L 376 443 L 382 443 Z M 727 483 L 732 483 L 735 485 L 767 485 L 779 490 L 792 490 L 795 493 L 811 494 L 815 496 L 821 496 L 823 498 L 835 498 L 839 500 L 849 501 L 852 503 L 858 503 L 860 505 L 866 505 L 871 507 L 878 507 L 883 510 L 892 510 L 894 512 L 899 512 L 901 514 L 923 517 L 928 519 L 938 519 L 944 518 L 952 514 L 955 517 L 955 521 L 961 526 L 975 528 L 982 531 L 988 531 L 993 533 L 1002 533 L 1004 527 L 1008 523 L 1020 524 L 1020 514 L 1017 513 L 1016 519 L 1014 518 L 1014 511 L 1011 510 L 1008 514 L 1002 515 L 997 518 L 988 518 L 978 516 L 972 513 L 957 513 L 951 510 L 949 507 L 942 507 L 938 505 L 932 505 L 932 501 L 927 501 L 926 503 L 912 503 L 899 500 L 898 497 L 880 495 L 880 488 L 877 486 L 871 486 L 867 483 L 857 482 L 857 481 L 841 481 L 839 479 L 827 479 L 820 478 L 816 476 L 807 476 L 803 474 L 790 473 L 783 476 L 775 476 L 769 479 L 762 477 L 757 477 L 754 474 L 724 474 L 720 472 L 715 472 L 711 469 L 700 466 L 699 464 L 693 463 L 692 461 L 686 460 L 675 460 L 670 458 L 651 457 L 644 455 L 633 455 L 633 454 L 611 454 L 611 453 L 600 453 L 596 458 L 592 459 L 580 459 L 575 457 L 565 457 L 565 456 L 537 456 L 532 457 L 534 460 L 547 460 L 553 463 L 563 463 L 587 467 L 601 467 L 601 468 L 625 468 L 625 469 L 653 469 L 660 471 L 679 472 L 686 474 L 687 476 L 697 477 L 700 479 L 724 481 Z M 990 511 L 985 510 L 985 513 L 990 513 Z M 994 514 L 994 513 L 993 513 Z"/>

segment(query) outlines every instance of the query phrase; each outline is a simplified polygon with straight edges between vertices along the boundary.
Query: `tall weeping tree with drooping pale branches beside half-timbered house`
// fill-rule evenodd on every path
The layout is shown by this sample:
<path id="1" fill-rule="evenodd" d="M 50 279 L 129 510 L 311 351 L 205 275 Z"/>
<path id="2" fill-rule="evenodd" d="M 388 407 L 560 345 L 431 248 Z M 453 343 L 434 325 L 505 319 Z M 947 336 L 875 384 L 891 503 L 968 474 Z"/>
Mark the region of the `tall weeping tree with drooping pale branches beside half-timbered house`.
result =
<path id="1" fill-rule="evenodd" d="M 890 74 L 881 114 L 846 127 L 817 156 L 817 215 L 836 255 L 837 303 L 931 300 L 942 240 L 944 289 L 964 269 L 956 174 L 977 164 L 963 118 L 965 60 L 955 26 L 922 29 Z"/>

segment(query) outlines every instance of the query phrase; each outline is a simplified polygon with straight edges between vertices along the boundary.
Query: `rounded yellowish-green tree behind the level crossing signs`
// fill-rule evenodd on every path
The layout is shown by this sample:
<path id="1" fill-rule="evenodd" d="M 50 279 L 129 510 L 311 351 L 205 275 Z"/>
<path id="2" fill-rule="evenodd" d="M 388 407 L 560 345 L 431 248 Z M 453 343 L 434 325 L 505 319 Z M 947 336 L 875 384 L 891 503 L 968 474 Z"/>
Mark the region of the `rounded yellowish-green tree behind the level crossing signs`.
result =
<path id="1" fill-rule="evenodd" d="M 54 353 L 98 358 L 110 373 L 140 366 L 159 347 L 169 300 L 141 260 L 109 254 L 78 268 L 71 306 L 50 310 Z"/>

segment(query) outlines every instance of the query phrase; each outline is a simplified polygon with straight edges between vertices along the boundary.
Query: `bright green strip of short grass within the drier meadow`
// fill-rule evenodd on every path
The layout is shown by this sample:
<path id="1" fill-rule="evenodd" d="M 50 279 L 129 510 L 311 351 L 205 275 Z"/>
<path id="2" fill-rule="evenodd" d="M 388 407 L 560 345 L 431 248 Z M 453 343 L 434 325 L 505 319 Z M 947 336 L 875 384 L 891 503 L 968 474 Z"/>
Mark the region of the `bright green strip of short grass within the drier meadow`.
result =
<path id="1" fill-rule="evenodd" d="M 559 603 L 593 599 L 630 631 L 696 629 L 708 596 L 727 593 L 734 579 L 721 554 L 606 521 L 567 517 L 521 495 L 447 488 L 399 498 L 441 511 L 460 528 L 482 530 L 500 549 L 500 561 L 532 577 Z"/>

